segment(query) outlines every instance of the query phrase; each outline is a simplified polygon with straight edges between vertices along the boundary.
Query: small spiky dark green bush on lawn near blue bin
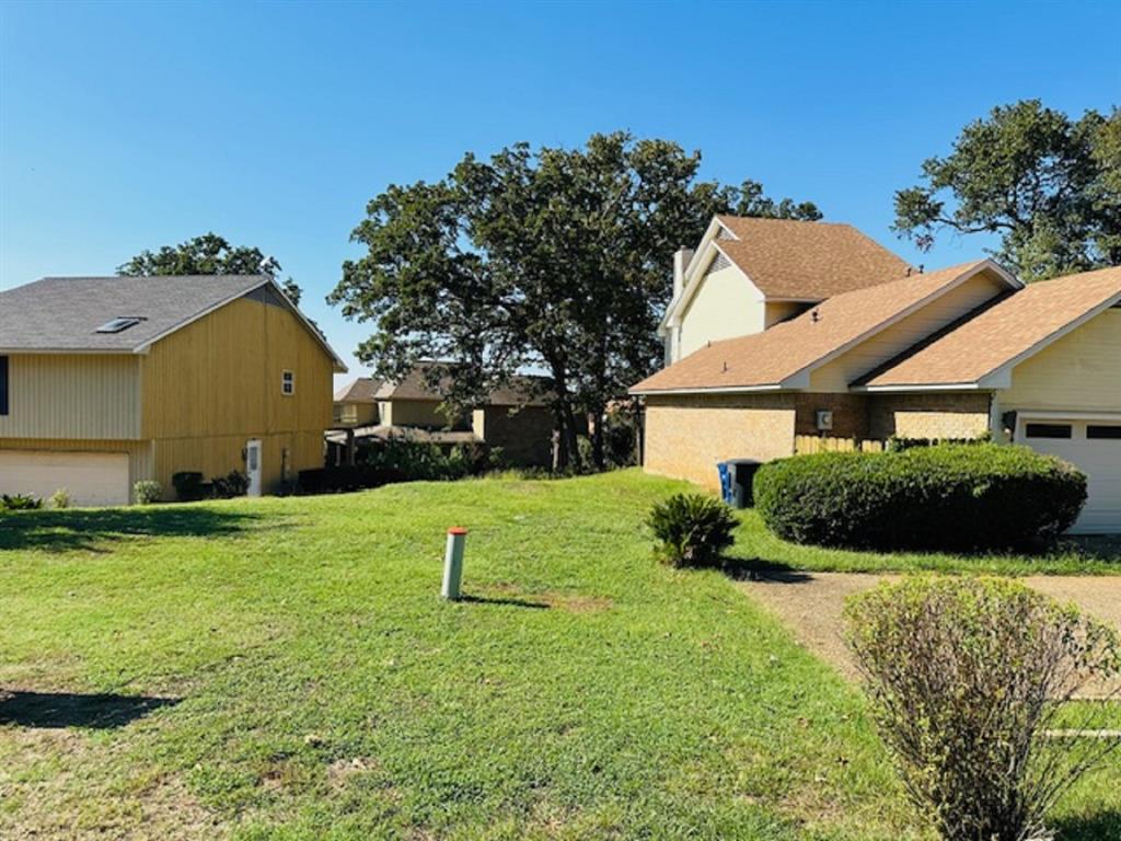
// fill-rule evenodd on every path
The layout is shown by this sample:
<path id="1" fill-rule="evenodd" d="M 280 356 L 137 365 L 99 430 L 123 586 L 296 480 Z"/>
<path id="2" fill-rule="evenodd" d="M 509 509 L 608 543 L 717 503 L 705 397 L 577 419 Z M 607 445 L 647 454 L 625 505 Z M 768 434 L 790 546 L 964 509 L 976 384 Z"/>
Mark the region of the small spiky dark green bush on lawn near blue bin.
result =
<path id="1" fill-rule="evenodd" d="M 650 509 L 647 526 L 659 540 L 657 553 L 674 566 L 706 566 L 732 545 L 732 509 L 703 493 L 676 493 Z"/>

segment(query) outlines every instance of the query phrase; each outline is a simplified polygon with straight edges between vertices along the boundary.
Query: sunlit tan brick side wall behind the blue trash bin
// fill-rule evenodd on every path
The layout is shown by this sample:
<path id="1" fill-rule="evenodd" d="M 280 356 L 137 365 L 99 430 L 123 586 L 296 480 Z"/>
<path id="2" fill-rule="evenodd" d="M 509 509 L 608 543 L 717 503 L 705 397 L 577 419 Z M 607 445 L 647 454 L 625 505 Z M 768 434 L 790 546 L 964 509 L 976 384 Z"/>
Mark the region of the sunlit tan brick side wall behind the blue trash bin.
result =
<path id="1" fill-rule="evenodd" d="M 717 461 L 794 453 L 795 406 L 791 394 L 648 397 L 643 466 L 716 489 Z"/>

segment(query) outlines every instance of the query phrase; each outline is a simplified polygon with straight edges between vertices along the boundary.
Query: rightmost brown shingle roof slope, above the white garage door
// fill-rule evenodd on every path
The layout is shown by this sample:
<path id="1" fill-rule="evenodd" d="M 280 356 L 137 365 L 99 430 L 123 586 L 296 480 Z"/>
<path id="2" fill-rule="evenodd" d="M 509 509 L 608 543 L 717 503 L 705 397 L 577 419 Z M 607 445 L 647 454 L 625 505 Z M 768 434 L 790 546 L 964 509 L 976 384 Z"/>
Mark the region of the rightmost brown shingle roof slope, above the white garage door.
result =
<path id="1" fill-rule="evenodd" d="M 872 376 L 864 385 L 975 383 L 1119 296 L 1121 267 L 1032 284 Z"/>

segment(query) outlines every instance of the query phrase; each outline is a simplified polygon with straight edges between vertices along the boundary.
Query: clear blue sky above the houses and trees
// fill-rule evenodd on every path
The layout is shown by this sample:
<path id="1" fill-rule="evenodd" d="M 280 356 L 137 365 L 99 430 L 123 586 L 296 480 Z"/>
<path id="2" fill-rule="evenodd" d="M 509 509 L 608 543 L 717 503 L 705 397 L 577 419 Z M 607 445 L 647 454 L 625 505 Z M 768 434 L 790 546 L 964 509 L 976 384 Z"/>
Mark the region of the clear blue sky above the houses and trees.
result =
<path id="1" fill-rule="evenodd" d="M 323 302 L 365 202 L 462 155 L 629 129 L 928 267 L 891 196 L 991 107 L 1121 103 L 1121 3 L 0 0 L 0 288 L 213 230 Z M 669 256 L 667 255 L 667 261 Z"/>

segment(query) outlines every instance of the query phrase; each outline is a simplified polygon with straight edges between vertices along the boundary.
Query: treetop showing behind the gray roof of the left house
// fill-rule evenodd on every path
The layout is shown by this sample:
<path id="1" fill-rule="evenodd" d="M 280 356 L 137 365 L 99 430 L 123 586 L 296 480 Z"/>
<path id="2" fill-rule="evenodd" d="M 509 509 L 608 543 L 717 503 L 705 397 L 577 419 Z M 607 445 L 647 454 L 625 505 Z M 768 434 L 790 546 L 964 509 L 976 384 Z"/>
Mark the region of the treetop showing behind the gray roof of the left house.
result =
<path id="1" fill-rule="evenodd" d="M 223 237 L 207 232 L 180 242 L 163 246 L 157 251 L 141 251 L 117 267 L 118 275 L 135 277 L 158 275 L 268 275 L 274 280 L 280 274 L 280 264 L 259 248 L 231 246 Z M 299 306 L 303 290 L 290 277 L 277 280 L 280 288 Z"/>

